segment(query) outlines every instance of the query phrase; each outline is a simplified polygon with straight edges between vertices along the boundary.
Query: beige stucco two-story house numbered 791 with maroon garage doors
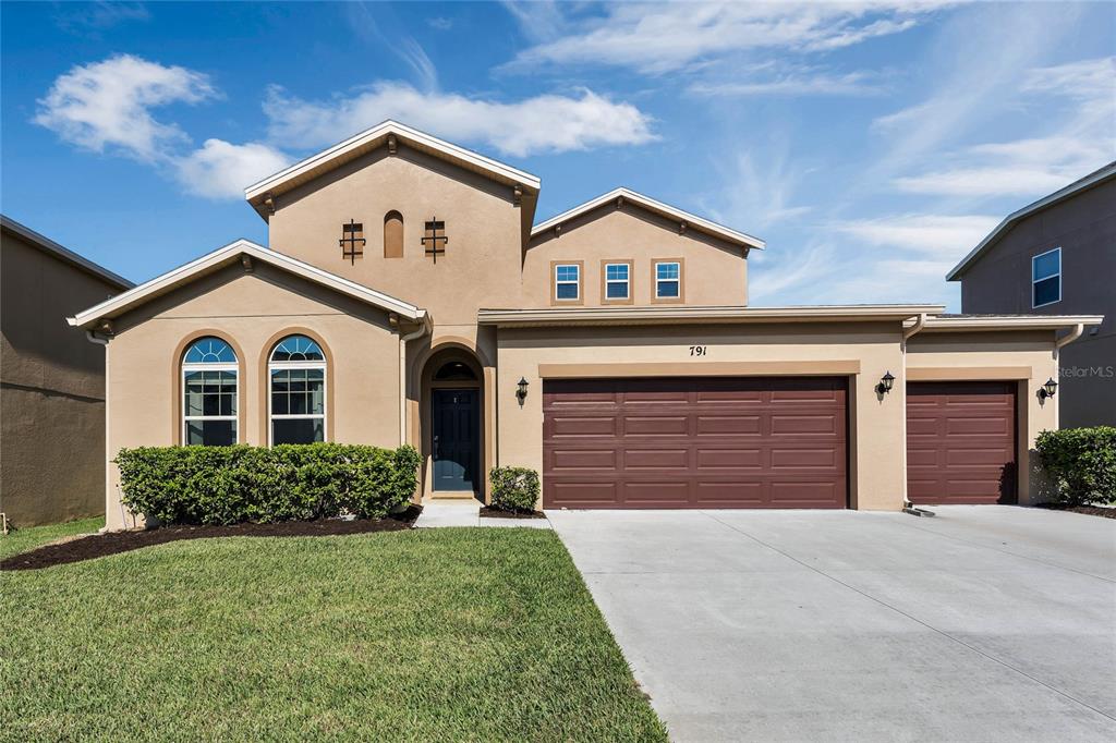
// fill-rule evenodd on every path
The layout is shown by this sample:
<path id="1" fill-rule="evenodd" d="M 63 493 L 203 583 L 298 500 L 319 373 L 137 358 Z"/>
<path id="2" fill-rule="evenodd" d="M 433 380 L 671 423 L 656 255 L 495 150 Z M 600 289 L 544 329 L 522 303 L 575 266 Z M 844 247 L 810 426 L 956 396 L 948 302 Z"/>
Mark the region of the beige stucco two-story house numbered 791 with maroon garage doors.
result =
<path id="1" fill-rule="evenodd" d="M 626 189 L 536 223 L 539 189 L 394 122 L 249 186 L 269 248 L 70 319 L 108 344 L 106 457 L 411 443 L 420 499 L 484 499 L 489 467 L 521 465 L 547 508 L 1032 498 L 1060 399 L 1038 390 L 1099 318 L 750 307 L 763 241 Z M 115 480 L 106 498 L 129 523 Z"/>

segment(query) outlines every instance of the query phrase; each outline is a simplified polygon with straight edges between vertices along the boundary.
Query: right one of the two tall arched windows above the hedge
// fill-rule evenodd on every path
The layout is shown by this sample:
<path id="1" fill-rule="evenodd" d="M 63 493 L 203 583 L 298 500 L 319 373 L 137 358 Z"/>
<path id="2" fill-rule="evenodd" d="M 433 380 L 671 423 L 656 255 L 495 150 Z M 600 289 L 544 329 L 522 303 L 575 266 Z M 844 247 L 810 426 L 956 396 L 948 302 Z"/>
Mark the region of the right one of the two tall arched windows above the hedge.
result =
<path id="1" fill-rule="evenodd" d="M 306 336 L 287 336 L 268 361 L 271 443 L 326 440 L 326 356 Z"/>

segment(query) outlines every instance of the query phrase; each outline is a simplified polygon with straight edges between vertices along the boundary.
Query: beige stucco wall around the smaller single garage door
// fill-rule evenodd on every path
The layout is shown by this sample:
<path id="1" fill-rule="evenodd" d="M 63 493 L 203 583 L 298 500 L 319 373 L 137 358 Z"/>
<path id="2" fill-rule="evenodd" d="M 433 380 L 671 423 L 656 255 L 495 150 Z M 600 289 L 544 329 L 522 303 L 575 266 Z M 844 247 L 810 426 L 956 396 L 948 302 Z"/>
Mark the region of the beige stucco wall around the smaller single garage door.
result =
<path id="1" fill-rule="evenodd" d="M 1039 387 L 1058 378 L 1052 330 L 1011 332 L 929 332 L 907 345 L 906 374 L 912 379 L 1014 380 L 1019 503 L 1049 500 L 1037 469 L 1035 437 L 1058 427 L 1059 395 L 1041 399 Z M 897 385 L 896 385 L 897 386 Z"/>

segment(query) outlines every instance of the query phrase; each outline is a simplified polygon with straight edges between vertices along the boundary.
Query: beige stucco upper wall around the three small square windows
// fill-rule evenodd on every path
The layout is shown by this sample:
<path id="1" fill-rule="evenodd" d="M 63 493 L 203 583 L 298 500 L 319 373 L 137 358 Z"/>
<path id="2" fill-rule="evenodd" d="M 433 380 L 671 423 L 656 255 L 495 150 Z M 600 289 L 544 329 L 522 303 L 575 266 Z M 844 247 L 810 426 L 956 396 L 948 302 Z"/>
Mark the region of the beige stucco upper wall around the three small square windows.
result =
<path id="1" fill-rule="evenodd" d="M 605 205 L 536 237 L 523 262 L 522 307 L 551 306 L 551 262 L 584 261 L 578 306 L 603 303 L 602 261 L 633 261 L 632 291 L 636 306 L 653 303 L 652 261 L 681 259 L 685 305 L 747 305 L 748 262 L 742 248 L 695 230 L 679 232 L 679 223 L 631 204 Z M 566 302 L 561 302 L 566 303 Z M 494 307 L 489 305 L 489 307 Z"/>

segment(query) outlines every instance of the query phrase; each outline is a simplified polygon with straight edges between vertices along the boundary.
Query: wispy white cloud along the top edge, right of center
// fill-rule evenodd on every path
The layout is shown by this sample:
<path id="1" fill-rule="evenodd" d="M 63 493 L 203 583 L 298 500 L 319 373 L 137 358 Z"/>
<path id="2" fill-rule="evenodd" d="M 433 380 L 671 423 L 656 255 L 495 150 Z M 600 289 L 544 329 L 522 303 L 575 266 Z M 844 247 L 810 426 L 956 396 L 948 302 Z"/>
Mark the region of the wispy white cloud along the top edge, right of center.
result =
<path id="1" fill-rule="evenodd" d="M 661 74 L 747 49 L 827 51 L 902 32 L 941 4 L 616 3 L 607 8 L 603 18 L 566 19 L 569 30 L 565 35 L 520 52 L 509 67 L 593 64 Z M 536 12 L 528 13 L 521 7 L 512 9 L 521 25 L 525 20 L 536 22 Z"/>

